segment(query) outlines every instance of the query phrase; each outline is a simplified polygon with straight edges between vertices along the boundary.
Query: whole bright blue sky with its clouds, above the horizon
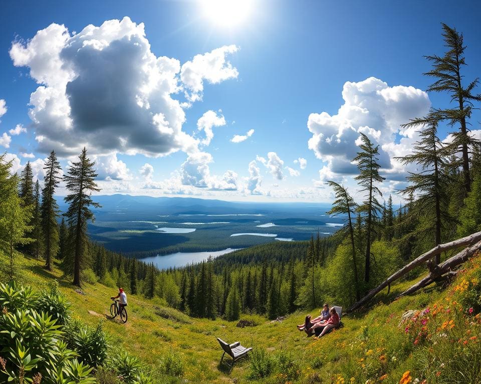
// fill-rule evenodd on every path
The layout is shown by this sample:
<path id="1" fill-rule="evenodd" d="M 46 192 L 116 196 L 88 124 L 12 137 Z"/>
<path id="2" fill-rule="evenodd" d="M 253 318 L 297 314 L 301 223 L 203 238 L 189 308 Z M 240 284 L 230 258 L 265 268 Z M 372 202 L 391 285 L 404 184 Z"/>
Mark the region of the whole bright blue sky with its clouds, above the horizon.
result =
<path id="1" fill-rule="evenodd" d="M 209 1 L 3 2 L 0 150 L 15 170 L 30 160 L 42 179 L 46 152 L 65 166 L 86 145 L 102 193 L 329 201 L 326 179 L 356 191 L 362 131 L 388 194 L 417 138 L 399 124 L 449 102 L 423 92 L 440 22 L 464 34 L 466 80 L 481 75 L 475 1 L 250 0 L 243 19 Z"/>

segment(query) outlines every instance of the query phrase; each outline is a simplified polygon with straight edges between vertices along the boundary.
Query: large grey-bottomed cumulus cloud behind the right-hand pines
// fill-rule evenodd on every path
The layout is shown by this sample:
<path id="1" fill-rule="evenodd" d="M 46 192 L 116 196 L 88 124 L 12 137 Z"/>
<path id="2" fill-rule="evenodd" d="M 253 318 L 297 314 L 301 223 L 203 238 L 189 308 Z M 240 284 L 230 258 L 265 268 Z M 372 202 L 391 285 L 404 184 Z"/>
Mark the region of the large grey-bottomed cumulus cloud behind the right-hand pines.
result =
<path id="1" fill-rule="evenodd" d="M 356 156 L 359 133 L 367 134 L 379 144 L 379 163 L 385 170 L 399 167 L 392 157 L 397 155 L 403 138 L 414 138 L 415 130 L 401 129 L 400 125 L 427 113 L 430 101 L 427 93 L 413 86 L 389 86 L 369 77 L 363 81 L 344 84 L 341 105 L 337 114 L 311 113 L 308 141 L 317 158 L 328 163 L 323 175 L 353 174 L 357 166 L 351 161 Z M 396 136 L 401 139 L 396 142 Z M 329 171 L 329 172 L 328 172 Z"/>

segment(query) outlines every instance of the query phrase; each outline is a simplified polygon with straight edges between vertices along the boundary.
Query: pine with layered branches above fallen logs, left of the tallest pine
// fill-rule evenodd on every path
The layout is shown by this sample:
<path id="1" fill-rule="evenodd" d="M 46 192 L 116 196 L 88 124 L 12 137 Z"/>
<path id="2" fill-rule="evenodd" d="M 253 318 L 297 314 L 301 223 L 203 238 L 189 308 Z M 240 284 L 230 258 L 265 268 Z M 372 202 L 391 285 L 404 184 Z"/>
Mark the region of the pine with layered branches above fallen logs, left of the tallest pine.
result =
<path id="1" fill-rule="evenodd" d="M 417 124 L 411 122 L 404 126 Z M 421 171 L 410 172 L 407 177 L 409 185 L 402 190 L 405 195 L 417 193 L 417 199 L 409 203 L 409 217 L 427 216 L 423 220 L 418 232 L 434 232 L 434 245 L 441 243 L 441 230 L 446 220 L 451 217 L 447 212 L 448 178 L 442 168 L 445 158 L 445 148 L 437 137 L 437 122 L 431 119 L 429 125 L 419 132 L 421 139 L 416 141 L 413 153 L 403 157 L 397 157 L 403 164 L 416 163 Z M 434 262 L 439 264 L 441 254 L 434 257 Z"/>

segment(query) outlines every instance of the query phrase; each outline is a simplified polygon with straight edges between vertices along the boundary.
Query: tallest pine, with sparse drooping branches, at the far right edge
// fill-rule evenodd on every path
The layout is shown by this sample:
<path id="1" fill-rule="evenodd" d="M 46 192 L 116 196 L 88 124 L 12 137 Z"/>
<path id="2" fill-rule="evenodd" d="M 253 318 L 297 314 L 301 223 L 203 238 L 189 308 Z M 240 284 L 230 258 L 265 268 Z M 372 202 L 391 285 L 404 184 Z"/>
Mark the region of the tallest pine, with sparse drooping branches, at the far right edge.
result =
<path id="1" fill-rule="evenodd" d="M 462 67 L 466 65 L 464 57 L 462 33 L 455 28 L 442 23 L 445 46 L 447 48 L 444 55 L 425 56 L 426 59 L 433 63 L 430 71 L 424 73 L 427 76 L 434 77 L 436 80 L 427 88 L 428 91 L 445 92 L 454 103 L 454 108 L 435 109 L 432 116 L 437 122 L 446 121 L 449 125 L 459 124 L 459 130 L 452 132 L 453 141 L 450 149 L 461 152 L 460 164 L 463 173 L 463 190 L 464 196 L 470 190 L 471 176 L 469 171 L 469 148 L 476 140 L 469 135 L 467 120 L 471 117 L 473 101 L 481 101 L 481 95 L 474 95 L 472 91 L 477 86 L 479 79 L 476 77 L 467 86 L 462 85 L 463 75 Z M 430 123 L 429 119 L 415 119 L 418 125 Z"/>

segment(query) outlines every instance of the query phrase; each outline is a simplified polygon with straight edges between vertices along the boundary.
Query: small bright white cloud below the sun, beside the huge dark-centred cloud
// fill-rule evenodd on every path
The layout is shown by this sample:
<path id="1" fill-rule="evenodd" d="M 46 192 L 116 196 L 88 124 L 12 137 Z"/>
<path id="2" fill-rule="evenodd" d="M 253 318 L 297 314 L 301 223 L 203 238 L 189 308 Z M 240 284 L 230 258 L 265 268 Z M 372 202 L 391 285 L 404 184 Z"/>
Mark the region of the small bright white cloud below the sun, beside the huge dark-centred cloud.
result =
<path id="1" fill-rule="evenodd" d="M 237 52 L 235 45 L 224 45 L 204 54 L 196 54 L 191 61 L 185 62 L 180 69 L 180 79 L 184 87 L 185 96 L 190 101 L 202 98 L 203 80 L 211 84 L 219 83 L 229 78 L 236 78 L 238 71 L 226 60 L 226 55 Z"/>

